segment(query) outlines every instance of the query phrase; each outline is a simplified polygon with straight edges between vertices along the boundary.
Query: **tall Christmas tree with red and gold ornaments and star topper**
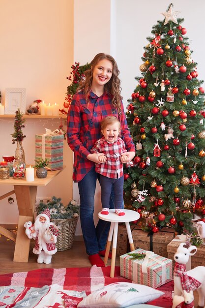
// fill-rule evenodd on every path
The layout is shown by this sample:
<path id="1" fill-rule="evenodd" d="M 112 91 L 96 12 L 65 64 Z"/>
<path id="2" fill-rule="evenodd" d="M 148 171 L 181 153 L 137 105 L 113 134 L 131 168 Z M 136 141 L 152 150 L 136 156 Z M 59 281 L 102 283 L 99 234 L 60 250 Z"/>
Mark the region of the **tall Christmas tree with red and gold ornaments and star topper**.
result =
<path id="1" fill-rule="evenodd" d="M 192 231 L 205 215 L 205 90 L 187 30 L 171 3 L 144 47 L 141 77 L 128 100 L 136 156 L 124 168 L 125 205 L 150 218 L 144 229 Z"/>

